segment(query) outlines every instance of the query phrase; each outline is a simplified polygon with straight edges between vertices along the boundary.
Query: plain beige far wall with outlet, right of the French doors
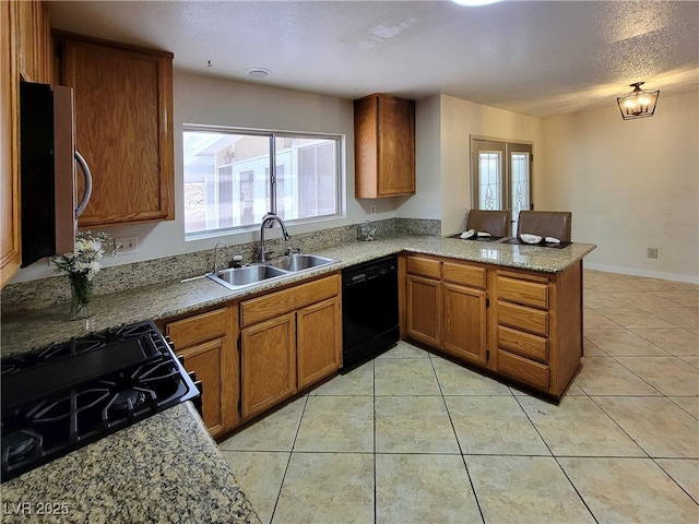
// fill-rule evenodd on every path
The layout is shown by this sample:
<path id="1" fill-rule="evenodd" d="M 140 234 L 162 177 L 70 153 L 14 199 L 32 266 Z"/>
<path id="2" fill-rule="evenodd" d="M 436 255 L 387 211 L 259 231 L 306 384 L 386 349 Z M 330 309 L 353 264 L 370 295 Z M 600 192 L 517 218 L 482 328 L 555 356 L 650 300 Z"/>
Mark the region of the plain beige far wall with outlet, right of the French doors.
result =
<path id="1" fill-rule="evenodd" d="M 699 282 L 699 93 L 661 90 L 639 120 L 615 102 L 543 120 L 537 209 L 572 211 L 573 240 L 597 245 L 587 267 Z"/>

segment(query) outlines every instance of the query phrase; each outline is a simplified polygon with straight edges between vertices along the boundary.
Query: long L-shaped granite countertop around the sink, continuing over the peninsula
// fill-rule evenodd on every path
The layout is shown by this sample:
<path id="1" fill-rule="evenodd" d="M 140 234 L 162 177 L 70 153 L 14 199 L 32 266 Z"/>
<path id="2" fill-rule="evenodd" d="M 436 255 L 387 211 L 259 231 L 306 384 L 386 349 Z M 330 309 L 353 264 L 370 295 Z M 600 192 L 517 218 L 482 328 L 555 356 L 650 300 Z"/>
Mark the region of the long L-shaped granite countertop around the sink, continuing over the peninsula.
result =
<path id="1" fill-rule="evenodd" d="M 228 289 L 210 278 L 170 281 L 95 297 L 91 302 L 94 315 L 87 321 L 69 321 L 67 303 L 3 315 L 0 353 L 2 356 L 24 353 L 33 347 L 123 323 L 187 314 L 402 251 L 558 273 L 595 247 L 593 243 L 571 243 L 562 249 L 554 249 L 436 236 L 403 236 L 370 242 L 356 240 L 316 251 L 317 254 L 336 260 L 336 263 L 263 281 L 241 289 Z"/>

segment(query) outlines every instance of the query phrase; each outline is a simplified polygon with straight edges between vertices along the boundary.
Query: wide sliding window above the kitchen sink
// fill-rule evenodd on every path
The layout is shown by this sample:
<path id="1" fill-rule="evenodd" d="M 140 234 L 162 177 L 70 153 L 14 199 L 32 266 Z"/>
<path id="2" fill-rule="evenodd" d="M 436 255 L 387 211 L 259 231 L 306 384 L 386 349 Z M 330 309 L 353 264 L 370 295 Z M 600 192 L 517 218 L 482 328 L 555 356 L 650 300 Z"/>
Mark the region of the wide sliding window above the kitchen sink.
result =
<path id="1" fill-rule="evenodd" d="M 185 234 L 340 216 L 336 135 L 185 127 Z M 274 158 L 272 166 L 271 158 Z"/>

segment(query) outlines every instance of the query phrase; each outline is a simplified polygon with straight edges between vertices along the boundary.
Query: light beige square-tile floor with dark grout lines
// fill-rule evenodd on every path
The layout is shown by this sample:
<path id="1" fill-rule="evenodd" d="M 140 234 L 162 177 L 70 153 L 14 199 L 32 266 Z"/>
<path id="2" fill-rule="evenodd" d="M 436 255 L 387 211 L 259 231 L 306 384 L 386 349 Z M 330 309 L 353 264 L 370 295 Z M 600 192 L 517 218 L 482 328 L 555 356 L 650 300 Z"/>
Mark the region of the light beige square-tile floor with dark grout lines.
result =
<path id="1" fill-rule="evenodd" d="M 263 522 L 699 522 L 699 286 L 584 273 L 559 406 L 407 343 L 222 442 Z"/>

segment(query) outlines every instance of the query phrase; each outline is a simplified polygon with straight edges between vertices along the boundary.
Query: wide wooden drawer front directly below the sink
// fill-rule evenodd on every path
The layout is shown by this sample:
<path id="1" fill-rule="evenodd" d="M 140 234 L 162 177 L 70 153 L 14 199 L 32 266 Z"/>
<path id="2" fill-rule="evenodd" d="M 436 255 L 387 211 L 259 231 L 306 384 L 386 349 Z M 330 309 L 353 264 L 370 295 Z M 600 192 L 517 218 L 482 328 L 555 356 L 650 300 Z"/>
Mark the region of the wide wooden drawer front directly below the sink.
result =
<path id="1" fill-rule="evenodd" d="M 281 291 L 240 302 L 240 326 L 256 324 L 311 303 L 325 300 L 340 293 L 340 275 L 299 284 Z"/>

